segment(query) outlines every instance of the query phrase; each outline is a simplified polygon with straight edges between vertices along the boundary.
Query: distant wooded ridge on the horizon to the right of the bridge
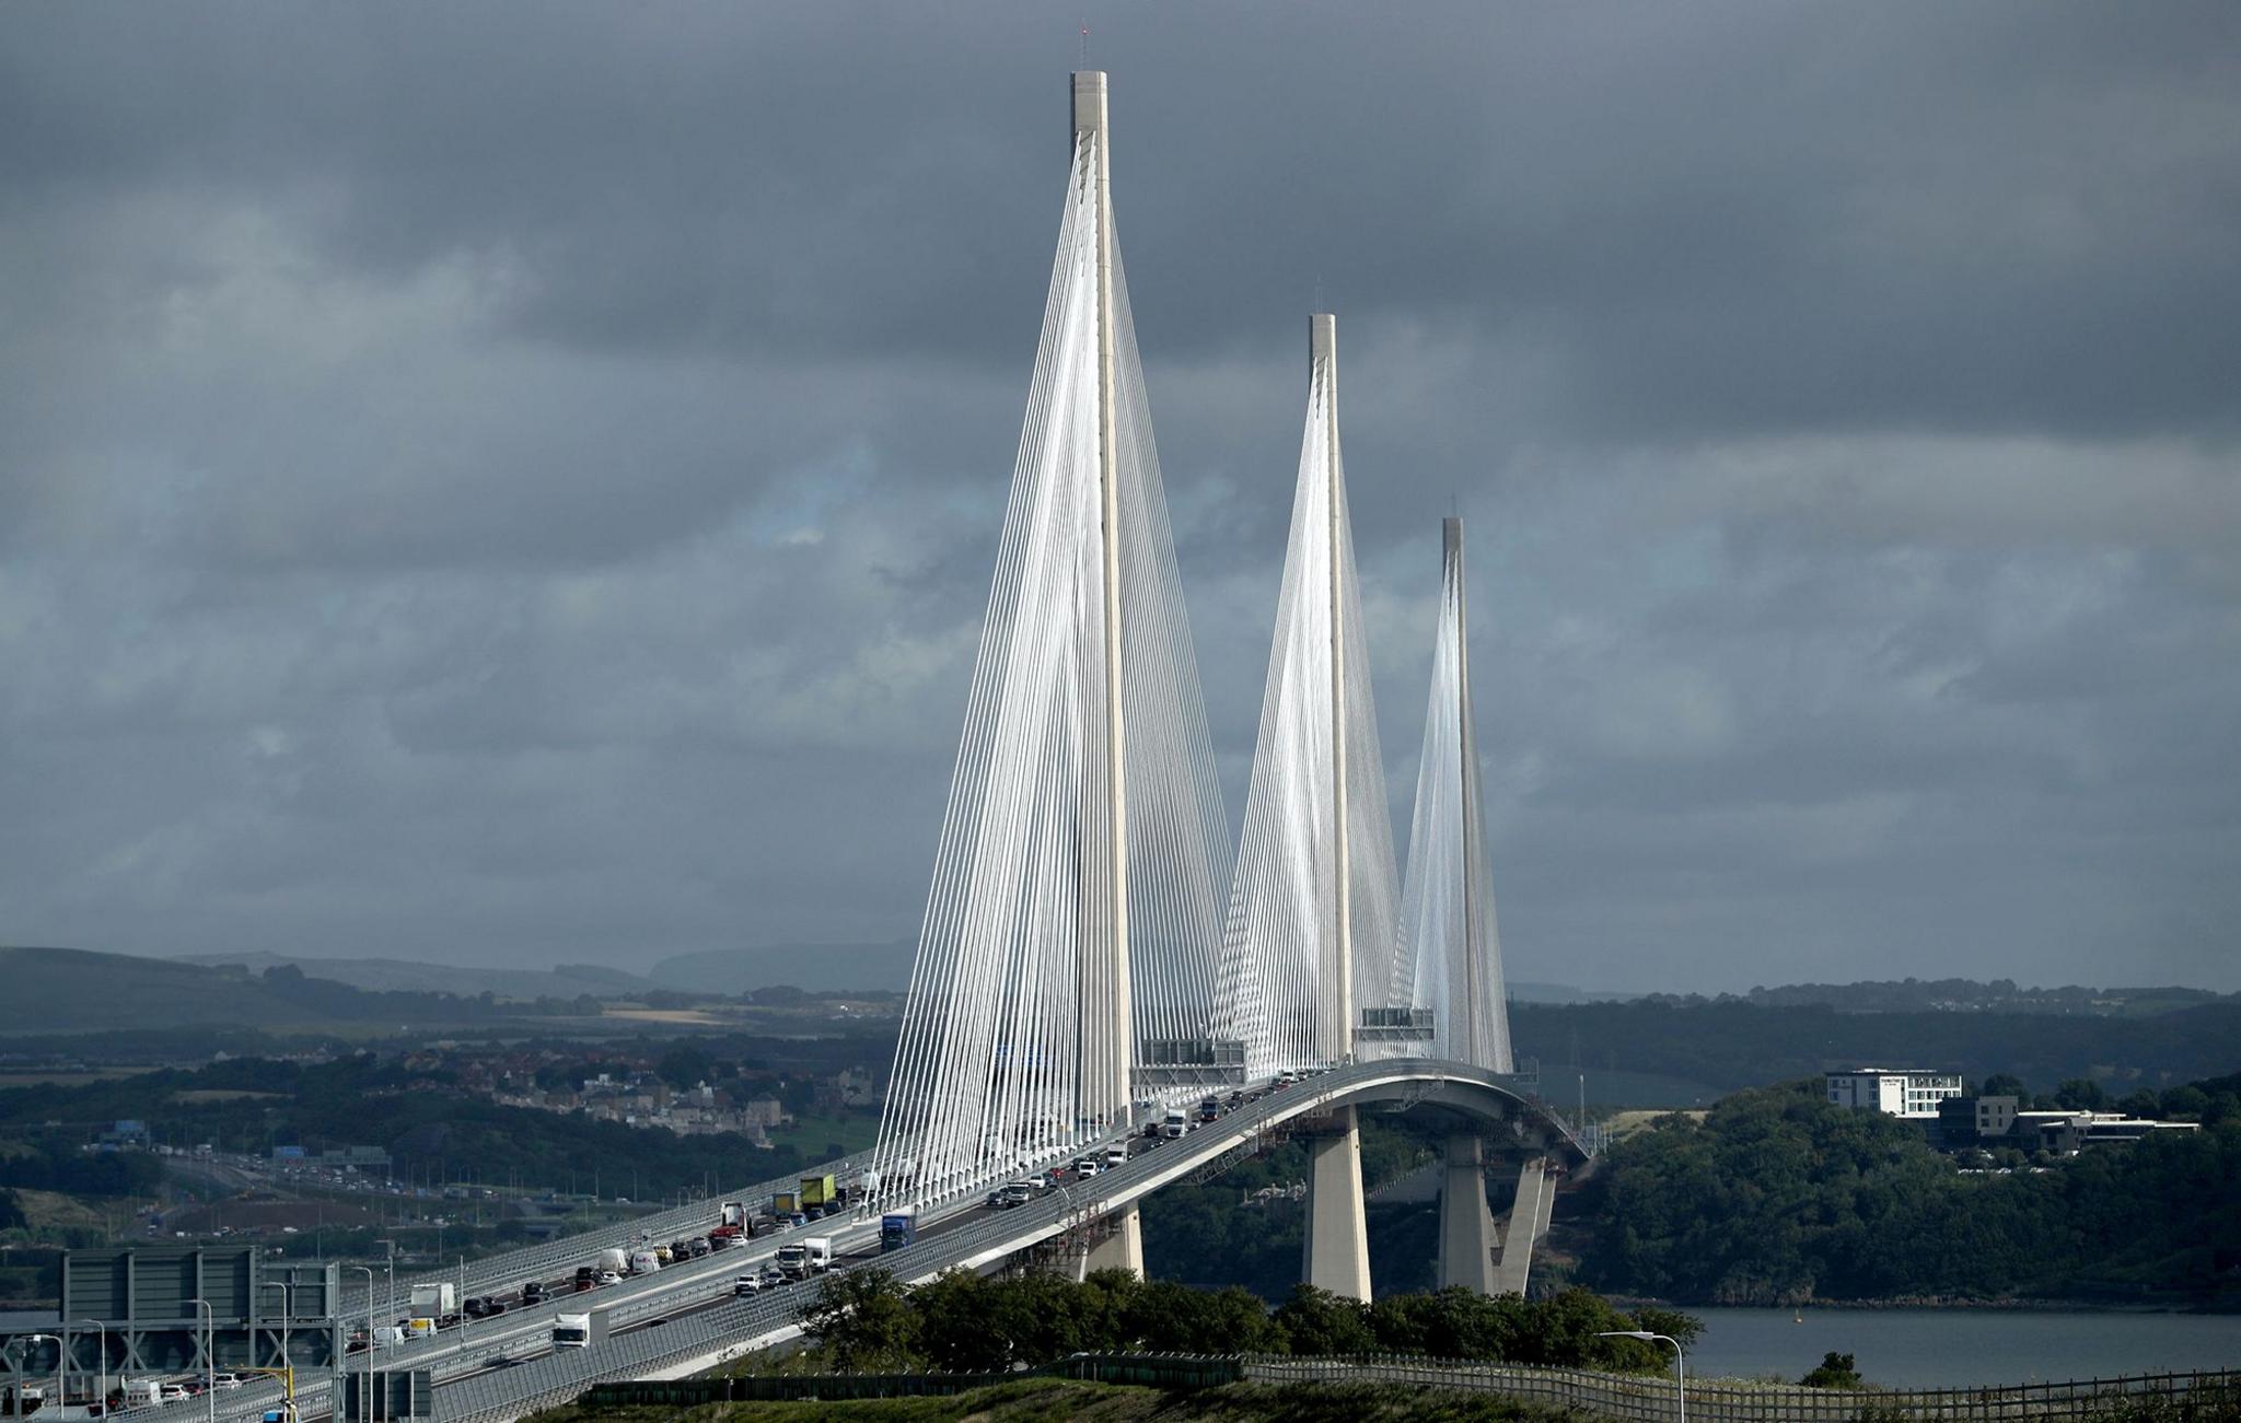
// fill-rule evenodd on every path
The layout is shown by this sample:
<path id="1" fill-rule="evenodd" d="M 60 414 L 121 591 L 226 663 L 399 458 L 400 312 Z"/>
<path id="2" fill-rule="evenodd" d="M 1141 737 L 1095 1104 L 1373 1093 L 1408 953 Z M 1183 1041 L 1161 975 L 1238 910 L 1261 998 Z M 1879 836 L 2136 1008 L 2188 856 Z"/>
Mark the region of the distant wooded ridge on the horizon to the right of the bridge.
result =
<path id="1" fill-rule="evenodd" d="M 2044 1013 L 1840 1013 L 1826 1004 L 1634 999 L 1622 1004 L 1510 1004 L 1522 1058 L 1578 1060 L 1589 1073 L 1638 1071 L 1719 1091 L 1802 1078 L 1833 1062 L 1918 1062 L 1983 1078 L 2010 1071 L 2062 1082 L 2116 1071 L 2167 1087 L 2232 1071 L 2241 1002 L 2219 999 L 2156 1017 Z"/>

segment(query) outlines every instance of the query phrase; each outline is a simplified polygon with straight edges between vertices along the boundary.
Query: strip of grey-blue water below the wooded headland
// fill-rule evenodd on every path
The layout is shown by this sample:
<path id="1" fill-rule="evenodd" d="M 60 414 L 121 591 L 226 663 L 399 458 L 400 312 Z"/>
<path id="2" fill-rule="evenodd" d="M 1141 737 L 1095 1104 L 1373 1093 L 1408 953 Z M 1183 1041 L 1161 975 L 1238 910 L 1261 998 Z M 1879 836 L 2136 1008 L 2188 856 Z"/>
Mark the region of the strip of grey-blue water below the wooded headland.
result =
<path id="1" fill-rule="evenodd" d="M 1831 1349 L 1898 1389 L 2241 1369 L 2241 1315 L 2035 1309 L 1690 1309 L 1690 1376 L 1795 1380 Z M 1804 1322 L 1800 1322 L 1804 1320 Z"/>

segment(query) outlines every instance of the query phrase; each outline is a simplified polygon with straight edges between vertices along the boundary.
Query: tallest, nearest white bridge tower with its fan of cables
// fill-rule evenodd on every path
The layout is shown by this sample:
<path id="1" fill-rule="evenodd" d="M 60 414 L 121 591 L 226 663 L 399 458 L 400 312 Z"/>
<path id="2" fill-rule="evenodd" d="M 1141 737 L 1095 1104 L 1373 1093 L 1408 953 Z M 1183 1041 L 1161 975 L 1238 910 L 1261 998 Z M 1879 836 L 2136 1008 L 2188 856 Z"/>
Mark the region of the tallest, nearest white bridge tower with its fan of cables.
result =
<path id="1" fill-rule="evenodd" d="M 1210 1033 L 1228 843 L 1114 240 L 1103 74 L 1073 166 L 872 1170 L 939 1203 L 1129 1118 Z"/>

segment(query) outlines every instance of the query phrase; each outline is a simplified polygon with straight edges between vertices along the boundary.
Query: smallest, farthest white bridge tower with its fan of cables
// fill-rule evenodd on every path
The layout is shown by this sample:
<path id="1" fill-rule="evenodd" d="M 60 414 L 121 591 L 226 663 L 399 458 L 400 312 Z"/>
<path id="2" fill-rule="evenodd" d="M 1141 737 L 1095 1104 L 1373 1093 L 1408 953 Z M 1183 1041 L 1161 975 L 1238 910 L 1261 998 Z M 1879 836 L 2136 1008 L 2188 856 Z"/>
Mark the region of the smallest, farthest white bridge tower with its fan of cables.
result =
<path id="1" fill-rule="evenodd" d="M 1479 751 L 1470 719 L 1470 627 L 1463 601 L 1463 520 L 1441 520 L 1439 639 L 1423 715 L 1416 818 L 1401 899 L 1414 999 L 1432 1008 L 1432 1055 L 1510 1071 L 1510 1011 L 1501 937 L 1486 869 Z"/>

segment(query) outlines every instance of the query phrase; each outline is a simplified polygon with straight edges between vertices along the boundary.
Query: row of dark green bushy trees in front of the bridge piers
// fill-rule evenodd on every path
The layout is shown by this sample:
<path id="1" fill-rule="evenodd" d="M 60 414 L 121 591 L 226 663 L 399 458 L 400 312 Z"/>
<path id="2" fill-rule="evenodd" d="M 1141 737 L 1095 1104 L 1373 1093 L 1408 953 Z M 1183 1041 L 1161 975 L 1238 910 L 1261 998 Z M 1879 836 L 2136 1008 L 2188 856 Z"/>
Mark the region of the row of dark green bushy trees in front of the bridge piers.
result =
<path id="1" fill-rule="evenodd" d="M 802 1306 L 818 1369 L 1006 1371 L 1080 1351 L 1172 1354 L 1425 1354 L 1533 1365 L 1661 1371 L 1638 1340 L 1598 1338 L 1654 1329 L 1683 1342 L 1701 1324 L 1665 1309 L 1625 1315 L 1584 1289 L 1549 1300 L 1486 1298 L 1463 1289 L 1360 1304 L 1295 1286 L 1271 1311 L 1242 1289 L 1199 1291 L 1129 1271 L 991 1280 L 950 1271 L 919 1286 L 867 1268 L 827 1275 Z"/>

